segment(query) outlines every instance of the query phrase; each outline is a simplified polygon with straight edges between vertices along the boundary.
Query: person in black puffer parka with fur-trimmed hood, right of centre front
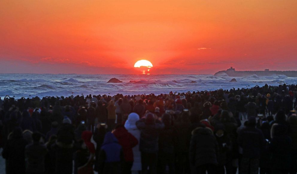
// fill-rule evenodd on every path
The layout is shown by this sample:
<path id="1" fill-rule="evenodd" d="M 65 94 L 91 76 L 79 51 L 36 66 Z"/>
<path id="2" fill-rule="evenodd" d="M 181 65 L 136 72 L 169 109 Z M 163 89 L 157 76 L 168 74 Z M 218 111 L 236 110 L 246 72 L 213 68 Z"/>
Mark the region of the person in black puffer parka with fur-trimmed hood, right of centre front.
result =
<path id="1" fill-rule="evenodd" d="M 190 142 L 190 164 L 196 167 L 197 173 L 215 174 L 218 164 L 218 143 L 213 131 L 200 124 L 192 131 Z"/>

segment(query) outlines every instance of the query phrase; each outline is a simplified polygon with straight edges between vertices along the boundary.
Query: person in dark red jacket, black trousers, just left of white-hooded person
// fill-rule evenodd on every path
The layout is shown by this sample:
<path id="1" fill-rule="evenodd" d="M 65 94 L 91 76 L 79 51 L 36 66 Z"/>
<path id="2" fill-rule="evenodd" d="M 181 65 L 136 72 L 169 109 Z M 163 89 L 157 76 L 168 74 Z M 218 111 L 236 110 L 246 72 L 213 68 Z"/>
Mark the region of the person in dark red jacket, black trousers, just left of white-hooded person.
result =
<path id="1" fill-rule="evenodd" d="M 123 148 L 125 164 L 123 166 L 123 174 L 131 174 L 131 168 L 133 165 L 133 150 L 132 148 L 138 144 L 138 140 L 130 134 L 124 125 L 120 124 L 116 126 L 116 129 L 112 132 L 119 144 Z"/>

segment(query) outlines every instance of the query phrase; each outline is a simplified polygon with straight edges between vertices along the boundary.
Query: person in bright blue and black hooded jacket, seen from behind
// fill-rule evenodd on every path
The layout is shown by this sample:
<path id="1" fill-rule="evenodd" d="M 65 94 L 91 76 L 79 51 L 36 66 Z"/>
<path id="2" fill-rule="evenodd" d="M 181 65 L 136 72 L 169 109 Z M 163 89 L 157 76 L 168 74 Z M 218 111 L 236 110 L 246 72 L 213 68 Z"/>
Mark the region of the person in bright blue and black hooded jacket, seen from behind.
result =
<path id="1" fill-rule="evenodd" d="M 107 132 L 99 152 L 100 174 L 121 174 L 125 163 L 122 146 L 111 132 Z"/>

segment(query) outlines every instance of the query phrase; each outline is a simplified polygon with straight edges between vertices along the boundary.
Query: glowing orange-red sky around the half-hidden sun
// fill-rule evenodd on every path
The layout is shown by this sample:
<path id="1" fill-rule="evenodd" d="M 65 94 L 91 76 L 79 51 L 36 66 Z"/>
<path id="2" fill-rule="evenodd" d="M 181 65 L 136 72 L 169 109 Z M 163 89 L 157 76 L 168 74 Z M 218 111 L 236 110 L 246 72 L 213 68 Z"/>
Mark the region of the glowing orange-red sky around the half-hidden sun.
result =
<path id="1" fill-rule="evenodd" d="M 1 0 L 0 73 L 296 70 L 296 0 Z"/>

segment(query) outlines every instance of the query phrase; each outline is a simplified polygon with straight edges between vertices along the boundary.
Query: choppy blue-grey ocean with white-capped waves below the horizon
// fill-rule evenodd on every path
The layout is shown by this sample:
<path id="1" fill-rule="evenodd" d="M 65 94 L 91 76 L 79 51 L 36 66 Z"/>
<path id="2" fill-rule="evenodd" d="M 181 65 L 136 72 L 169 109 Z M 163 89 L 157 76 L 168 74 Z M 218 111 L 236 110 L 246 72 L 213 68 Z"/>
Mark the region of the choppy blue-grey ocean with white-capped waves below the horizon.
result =
<path id="1" fill-rule="evenodd" d="M 107 83 L 117 78 L 122 83 Z M 237 82 L 229 82 L 235 78 Z M 247 88 L 296 84 L 296 77 L 284 75 L 230 77 L 227 74 L 131 75 L 131 74 L 0 74 L 0 97 L 44 97 L 70 95 L 161 94 L 173 92 Z M 3 99 L 3 98 L 2 98 Z"/>

